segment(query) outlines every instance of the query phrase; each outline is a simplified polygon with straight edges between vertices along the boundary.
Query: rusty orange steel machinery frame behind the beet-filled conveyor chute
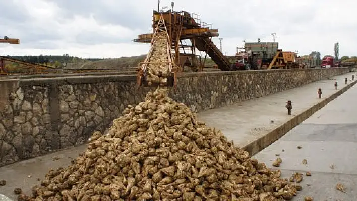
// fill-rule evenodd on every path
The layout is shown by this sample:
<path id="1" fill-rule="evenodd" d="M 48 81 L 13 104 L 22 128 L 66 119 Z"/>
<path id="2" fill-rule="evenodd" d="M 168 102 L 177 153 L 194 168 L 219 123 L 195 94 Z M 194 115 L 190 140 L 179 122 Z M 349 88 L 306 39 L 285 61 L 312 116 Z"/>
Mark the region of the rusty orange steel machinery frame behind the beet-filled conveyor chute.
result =
<path id="1" fill-rule="evenodd" d="M 189 66 L 193 71 L 202 71 L 207 55 L 212 58 L 220 70 L 230 70 L 229 60 L 212 42 L 212 37 L 219 36 L 218 29 L 212 29 L 209 27 L 210 24 L 201 22 L 201 17 L 197 14 L 186 11 L 153 11 L 152 26 L 154 29 L 161 16 L 170 39 L 172 61 L 180 68 L 180 71 L 184 71 L 185 66 Z M 151 43 L 153 36 L 154 33 L 141 34 L 134 41 Z M 205 52 L 205 57 L 201 58 L 197 55 L 196 49 Z"/>

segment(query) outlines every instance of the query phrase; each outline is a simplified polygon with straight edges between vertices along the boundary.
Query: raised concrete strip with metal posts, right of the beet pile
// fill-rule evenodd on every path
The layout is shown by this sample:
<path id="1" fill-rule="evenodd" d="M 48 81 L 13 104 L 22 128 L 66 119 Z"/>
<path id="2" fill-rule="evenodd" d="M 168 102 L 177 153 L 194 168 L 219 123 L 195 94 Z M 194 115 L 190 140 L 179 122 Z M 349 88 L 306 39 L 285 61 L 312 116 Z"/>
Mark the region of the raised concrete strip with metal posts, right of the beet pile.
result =
<path id="1" fill-rule="evenodd" d="M 345 78 L 348 79 L 347 84 L 351 83 L 352 75 L 353 73 L 334 76 L 329 80 L 320 80 L 269 96 L 203 111 L 198 117 L 208 126 L 221 129 L 236 146 L 244 147 L 334 94 L 335 81 L 338 82 L 338 89 L 346 86 Z M 319 88 L 322 88 L 322 99 L 318 98 Z M 285 108 L 288 100 L 292 101 L 291 116 L 287 115 Z"/>

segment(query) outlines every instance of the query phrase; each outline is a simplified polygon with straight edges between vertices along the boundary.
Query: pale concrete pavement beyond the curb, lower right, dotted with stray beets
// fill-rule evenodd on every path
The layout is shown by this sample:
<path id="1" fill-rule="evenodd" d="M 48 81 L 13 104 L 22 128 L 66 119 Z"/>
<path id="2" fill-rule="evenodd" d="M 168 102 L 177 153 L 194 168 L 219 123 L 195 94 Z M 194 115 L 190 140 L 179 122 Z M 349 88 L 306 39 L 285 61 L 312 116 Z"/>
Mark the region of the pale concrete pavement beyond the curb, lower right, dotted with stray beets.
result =
<path id="1" fill-rule="evenodd" d="M 284 177 L 304 173 L 303 191 L 294 200 L 304 200 L 305 195 L 314 200 L 357 200 L 356 99 L 357 86 L 353 86 L 254 156 L 270 168 L 281 157 Z M 306 171 L 312 176 L 305 176 Z M 336 190 L 338 183 L 346 193 Z"/>

